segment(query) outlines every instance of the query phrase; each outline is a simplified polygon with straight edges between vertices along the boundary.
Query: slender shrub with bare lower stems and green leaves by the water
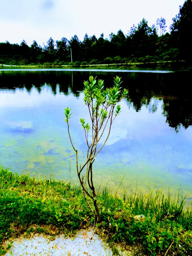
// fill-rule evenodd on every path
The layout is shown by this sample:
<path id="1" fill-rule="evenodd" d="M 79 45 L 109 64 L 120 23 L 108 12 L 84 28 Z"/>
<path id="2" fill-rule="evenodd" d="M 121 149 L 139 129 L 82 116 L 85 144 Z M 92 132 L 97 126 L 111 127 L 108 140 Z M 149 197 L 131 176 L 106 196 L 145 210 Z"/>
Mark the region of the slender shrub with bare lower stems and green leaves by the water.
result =
<path id="1" fill-rule="evenodd" d="M 114 119 L 121 112 L 120 105 L 117 103 L 128 95 L 128 90 L 121 91 L 120 77 L 114 77 L 114 86 L 111 88 L 104 88 L 103 80 L 96 80 L 96 77 L 89 77 L 89 81 L 84 81 L 84 102 L 88 107 L 90 124 L 85 122 L 84 118 L 80 118 L 80 124 L 85 132 L 85 139 L 87 143 L 87 156 L 85 163 L 81 166 L 78 163 L 78 151 L 75 148 L 70 135 L 70 123 L 71 109 L 69 107 L 64 109 L 65 122 L 68 125 L 68 133 L 70 142 L 76 154 L 76 168 L 77 175 L 82 186 L 84 197 L 91 211 L 95 214 L 96 219 L 100 218 L 100 211 L 97 203 L 97 194 L 93 184 L 93 170 L 92 165 L 95 157 L 102 150 L 109 138 L 112 124 Z M 91 135 L 90 135 L 91 130 Z M 101 138 L 106 131 L 106 137 L 101 146 L 98 145 Z M 92 199 L 94 204 L 94 210 L 91 208 L 90 203 L 87 200 L 87 196 Z"/>

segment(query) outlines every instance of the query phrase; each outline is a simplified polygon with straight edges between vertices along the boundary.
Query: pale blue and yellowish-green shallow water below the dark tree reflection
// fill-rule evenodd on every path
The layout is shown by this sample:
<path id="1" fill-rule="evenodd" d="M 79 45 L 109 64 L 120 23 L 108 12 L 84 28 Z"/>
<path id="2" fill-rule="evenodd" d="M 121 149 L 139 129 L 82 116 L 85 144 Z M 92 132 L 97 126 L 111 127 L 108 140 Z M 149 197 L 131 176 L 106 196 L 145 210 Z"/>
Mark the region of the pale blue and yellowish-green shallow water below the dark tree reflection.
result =
<path id="1" fill-rule="evenodd" d="M 73 79 L 75 81 L 75 77 Z M 86 73 L 84 80 L 87 79 Z M 18 173 L 26 170 L 31 174 L 43 173 L 47 179 L 53 173 L 56 179 L 71 179 L 76 183 L 75 154 L 63 109 L 72 108 L 71 136 L 83 163 L 86 143 L 79 118 L 88 120 L 88 112 L 82 92 L 65 86 L 63 93 L 60 83 L 55 83 L 53 90 L 53 85 L 46 82 L 40 87 L 31 84 L 27 89 L 14 81 L 11 82 L 14 88 L 0 89 L 0 165 Z M 132 90 L 130 88 L 130 93 Z M 141 89 L 137 97 L 139 93 Z M 147 194 L 150 189 L 162 188 L 166 194 L 169 190 L 173 197 L 181 186 L 180 195 L 187 196 L 189 204 L 192 198 L 192 127 L 186 129 L 180 125 L 177 132 L 170 127 L 171 121 L 166 122 L 163 111 L 167 97 L 175 100 L 175 96 L 166 95 L 165 99 L 161 93 L 146 96 L 143 101 L 147 104 L 142 103 L 139 110 L 136 98 L 120 102 L 122 112 L 94 162 L 95 180 L 98 186 L 102 181 L 113 192 L 123 179 L 127 193 L 134 192 L 137 184 L 138 192 L 142 190 Z M 118 192 L 123 192 L 122 186 Z"/>

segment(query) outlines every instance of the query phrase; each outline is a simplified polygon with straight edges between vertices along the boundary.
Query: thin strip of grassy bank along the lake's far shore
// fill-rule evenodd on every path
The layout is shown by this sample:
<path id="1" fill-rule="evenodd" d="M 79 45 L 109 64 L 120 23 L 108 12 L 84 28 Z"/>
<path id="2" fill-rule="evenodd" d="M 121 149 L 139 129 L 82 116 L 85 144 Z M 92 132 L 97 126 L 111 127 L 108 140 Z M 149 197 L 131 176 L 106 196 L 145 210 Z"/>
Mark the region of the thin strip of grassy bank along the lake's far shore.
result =
<path id="1" fill-rule="evenodd" d="M 81 65 L 80 62 L 73 65 L 1 65 L 0 69 L 115 69 L 115 70 L 159 70 L 159 71 L 190 71 L 184 61 L 159 61 L 159 62 L 132 62 L 120 64 L 95 64 Z"/>

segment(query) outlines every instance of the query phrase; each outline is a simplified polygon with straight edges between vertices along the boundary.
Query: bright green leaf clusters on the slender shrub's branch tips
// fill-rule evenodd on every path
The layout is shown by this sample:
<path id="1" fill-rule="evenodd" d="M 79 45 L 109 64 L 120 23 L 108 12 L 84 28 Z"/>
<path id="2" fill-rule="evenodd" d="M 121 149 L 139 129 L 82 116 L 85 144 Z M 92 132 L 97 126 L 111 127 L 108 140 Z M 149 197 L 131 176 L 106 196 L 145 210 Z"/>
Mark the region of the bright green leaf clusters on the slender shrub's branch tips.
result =
<path id="1" fill-rule="evenodd" d="M 116 106 L 117 102 L 128 95 L 127 89 L 121 90 L 121 78 L 119 76 L 114 77 L 114 86 L 106 89 L 104 89 L 104 81 L 102 79 L 97 81 L 96 78 L 89 76 L 89 80 L 84 81 L 83 90 L 84 102 L 89 108 L 91 123 L 94 129 L 98 124 L 102 126 L 105 120 L 108 122 L 108 118 L 112 122 L 113 118 L 121 112 L 120 105 Z M 69 107 L 65 108 L 64 113 L 66 117 L 64 120 L 68 123 L 72 114 L 71 109 Z M 84 118 L 80 118 L 80 123 L 85 131 L 90 131 L 91 127 L 89 123 L 85 123 Z M 101 127 L 96 127 L 94 132 L 97 132 L 97 129 L 99 131 Z"/>

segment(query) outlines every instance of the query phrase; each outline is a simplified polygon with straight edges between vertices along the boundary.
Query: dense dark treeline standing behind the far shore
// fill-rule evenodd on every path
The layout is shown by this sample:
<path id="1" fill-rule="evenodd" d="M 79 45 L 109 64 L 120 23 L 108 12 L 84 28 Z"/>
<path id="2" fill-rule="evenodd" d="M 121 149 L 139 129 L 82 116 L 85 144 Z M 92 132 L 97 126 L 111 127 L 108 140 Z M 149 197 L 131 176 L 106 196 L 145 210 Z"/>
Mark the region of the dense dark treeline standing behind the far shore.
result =
<path id="1" fill-rule="evenodd" d="M 165 19 L 157 19 L 157 26 L 148 26 L 144 18 L 138 26 L 131 27 L 127 35 L 119 30 L 104 38 L 85 34 L 80 41 L 77 35 L 70 40 L 62 38 L 56 42 L 50 37 L 46 45 L 34 40 L 28 46 L 23 40 L 20 45 L 8 41 L 0 43 L 0 63 L 10 65 L 44 64 L 65 65 L 72 60 L 78 64 L 151 62 L 167 60 L 191 60 L 189 28 L 192 25 L 192 2 L 187 0 L 180 6 L 179 14 L 173 18 L 170 34 L 165 31 Z M 158 35 L 160 29 L 160 35 Z"/>

